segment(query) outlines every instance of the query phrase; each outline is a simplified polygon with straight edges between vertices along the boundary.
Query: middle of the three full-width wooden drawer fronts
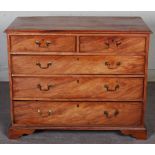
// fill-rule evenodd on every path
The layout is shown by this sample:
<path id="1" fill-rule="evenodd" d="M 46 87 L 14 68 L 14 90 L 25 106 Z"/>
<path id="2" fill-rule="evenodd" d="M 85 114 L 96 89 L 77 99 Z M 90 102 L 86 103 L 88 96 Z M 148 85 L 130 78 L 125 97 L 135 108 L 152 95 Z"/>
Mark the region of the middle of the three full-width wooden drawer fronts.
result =
<path id="1" fill-rule="evenodd" d="M 143 78 L 13 78 L 14 98 L 141 100 Z"/>

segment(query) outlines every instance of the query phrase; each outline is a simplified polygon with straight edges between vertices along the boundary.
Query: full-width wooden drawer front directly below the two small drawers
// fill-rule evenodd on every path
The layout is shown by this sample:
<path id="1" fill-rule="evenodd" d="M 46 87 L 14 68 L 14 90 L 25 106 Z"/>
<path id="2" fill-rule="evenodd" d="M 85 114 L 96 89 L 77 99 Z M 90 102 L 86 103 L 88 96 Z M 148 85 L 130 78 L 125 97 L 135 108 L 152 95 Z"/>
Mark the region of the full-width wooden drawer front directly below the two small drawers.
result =
<path id="1" fill-rule="evenodd" d="M 13 74 L 144 74 L 143 56 L 12 56 Z"/>

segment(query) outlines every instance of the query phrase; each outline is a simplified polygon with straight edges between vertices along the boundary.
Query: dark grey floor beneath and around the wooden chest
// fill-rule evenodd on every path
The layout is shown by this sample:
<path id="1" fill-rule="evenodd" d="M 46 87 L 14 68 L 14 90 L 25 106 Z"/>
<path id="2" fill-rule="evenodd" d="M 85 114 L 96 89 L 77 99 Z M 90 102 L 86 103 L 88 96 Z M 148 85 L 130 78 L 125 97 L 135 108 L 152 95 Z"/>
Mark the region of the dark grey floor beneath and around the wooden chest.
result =
<path id="1" fill-rule="evenodd" d="M 10 123 L 9 102 L 9 84 L 0 82 L 1 144 L 155 144 L 155 82 L 148 84 L 147 140 L 136 140 L 118 131 L 38 131 L 17 140 L 9 140 L 7 138 Z"/>

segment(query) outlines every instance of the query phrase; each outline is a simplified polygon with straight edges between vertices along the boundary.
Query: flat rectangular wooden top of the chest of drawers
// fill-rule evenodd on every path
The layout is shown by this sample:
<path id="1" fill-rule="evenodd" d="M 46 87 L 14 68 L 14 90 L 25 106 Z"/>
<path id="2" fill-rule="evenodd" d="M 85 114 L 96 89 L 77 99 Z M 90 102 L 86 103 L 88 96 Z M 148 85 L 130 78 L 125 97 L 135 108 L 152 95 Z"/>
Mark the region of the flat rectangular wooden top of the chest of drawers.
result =
<path id="1" fill-rule="evenodd" d="M 17 17 L 5 32 L 150 33 L 140 17 L 47 16 Z"/>

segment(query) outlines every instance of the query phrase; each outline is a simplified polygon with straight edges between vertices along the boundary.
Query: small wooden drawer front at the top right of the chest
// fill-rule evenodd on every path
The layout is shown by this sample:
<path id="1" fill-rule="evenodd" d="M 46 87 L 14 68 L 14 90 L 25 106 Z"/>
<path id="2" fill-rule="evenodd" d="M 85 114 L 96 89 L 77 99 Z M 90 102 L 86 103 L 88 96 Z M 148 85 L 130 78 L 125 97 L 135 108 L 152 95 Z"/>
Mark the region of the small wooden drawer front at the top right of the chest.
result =
<path id="1" fill-rule="evenodd" d="M 80 52 L 144 52 L 144 37 L 84 36 L 80 37 Z"/>

